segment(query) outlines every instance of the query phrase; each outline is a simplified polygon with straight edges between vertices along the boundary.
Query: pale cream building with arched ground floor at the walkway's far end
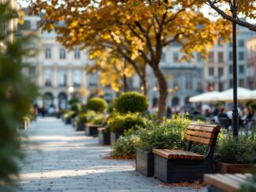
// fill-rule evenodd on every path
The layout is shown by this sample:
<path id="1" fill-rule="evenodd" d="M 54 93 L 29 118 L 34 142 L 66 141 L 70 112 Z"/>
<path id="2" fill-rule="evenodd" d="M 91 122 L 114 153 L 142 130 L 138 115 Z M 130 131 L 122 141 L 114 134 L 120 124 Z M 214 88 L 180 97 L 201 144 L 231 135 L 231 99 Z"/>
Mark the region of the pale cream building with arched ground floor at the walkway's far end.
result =
<path id="1" fill-rule="evenodd" d="M 92 96 L 102 96 L 112 101 L 115 92 L 101 87 L 99 74 L 86 73 L 86 66 L 92 63 L 89 53 L 79 47 L 70 51 L 65 49 L 56 41 L 57 34 L 54 31 L 46 33 L 38 30 L 40 20 L 40 16 L 25 16 L 24 25 L 19 26 L 18 33 L 24 35 L 33 31 L 38 35 L 28 45 L 34 54 L 24 59 L 25 63 L 30 63 L 25 73 L 38 85 L 41 94 L 35 101 L 38 107 L 66 109 L 68 100 L 74 97 L 82 103 Z"/>

